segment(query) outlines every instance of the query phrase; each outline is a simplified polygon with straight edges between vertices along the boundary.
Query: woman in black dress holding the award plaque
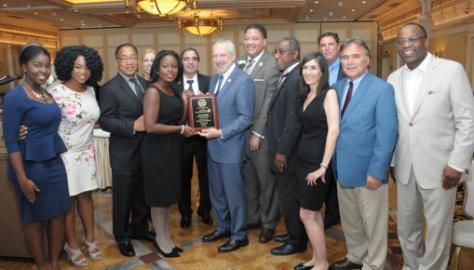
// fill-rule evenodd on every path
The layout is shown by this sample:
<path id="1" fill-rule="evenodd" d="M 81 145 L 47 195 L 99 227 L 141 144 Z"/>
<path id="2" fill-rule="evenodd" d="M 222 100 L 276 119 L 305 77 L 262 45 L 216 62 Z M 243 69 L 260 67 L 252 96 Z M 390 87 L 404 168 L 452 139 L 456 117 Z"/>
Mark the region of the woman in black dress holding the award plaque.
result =
<path id="1" fill-rule="evenodd" d="M 194 135 L 185 126 L 187 97 L 174 83 L 182 73 L 174 51 L 160 51 L 151 67 L 152 84 L 143 99 L 146 136 L 142 143 L 145 202 L 150 206 L 158 251 L 165 257 L 179 257 L 169 233 L 169 206 L 181 198 L 181 154 L 183 136 Z"/>

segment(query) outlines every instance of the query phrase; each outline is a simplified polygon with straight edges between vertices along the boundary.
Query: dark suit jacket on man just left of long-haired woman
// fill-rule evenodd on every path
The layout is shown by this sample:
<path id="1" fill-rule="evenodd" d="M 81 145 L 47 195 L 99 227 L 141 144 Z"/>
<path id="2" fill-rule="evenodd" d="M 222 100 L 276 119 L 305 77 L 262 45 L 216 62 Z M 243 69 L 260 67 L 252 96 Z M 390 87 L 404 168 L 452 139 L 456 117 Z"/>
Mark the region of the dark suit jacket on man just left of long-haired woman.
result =
<path id="1" fill-rule="evenodd" d="M 297 65 L 278 87 L 268 109 L 267 139 L 271 156 L 292 156 L 300 129 L 296 116 L 296 98 L 301 76 Z"/>

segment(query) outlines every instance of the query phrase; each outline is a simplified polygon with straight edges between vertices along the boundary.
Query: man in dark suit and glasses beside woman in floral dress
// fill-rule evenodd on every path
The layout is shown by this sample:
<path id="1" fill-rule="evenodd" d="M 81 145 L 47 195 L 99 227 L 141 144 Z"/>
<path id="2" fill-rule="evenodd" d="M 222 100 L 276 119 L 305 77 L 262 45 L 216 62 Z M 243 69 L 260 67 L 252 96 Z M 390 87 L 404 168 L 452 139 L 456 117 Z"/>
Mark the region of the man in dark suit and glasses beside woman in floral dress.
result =
<path id="1" fill-rule="evenodd" d="M 138 52 L 133 44 L 119 45 L 115 58 L 119 71 L 101 88 L 99 123 L 102 129 L 110 132 L 114 238 L 124 256 L 135 256 L 131 238 L 154 241 L 153 234 L 148 231 L 149 210 L 143 199 L 140 159 L 145 130 L 143 93 L 147 83 L 137 76 Z"/>

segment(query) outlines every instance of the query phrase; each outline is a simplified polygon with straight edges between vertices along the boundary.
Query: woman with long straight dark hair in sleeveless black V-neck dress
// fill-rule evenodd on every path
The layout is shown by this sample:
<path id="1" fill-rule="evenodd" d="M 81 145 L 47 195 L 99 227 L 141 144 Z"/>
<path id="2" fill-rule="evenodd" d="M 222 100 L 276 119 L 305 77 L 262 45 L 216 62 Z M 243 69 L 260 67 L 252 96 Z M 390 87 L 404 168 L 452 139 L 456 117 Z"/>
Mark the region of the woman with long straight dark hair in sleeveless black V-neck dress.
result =
<path id="1" fill-rule="evenodd" d="M 337 94 L 329 88 L 328 64 L 321 53 L 309 53 L 301 61 L 301 83 L 297 115 L 301 125 L 297 158 L 297 197 L 300 218 L 313 248 L 311 260 L 294 269 L 325 270 L 326 257 L 324 223 L 321 207 L 334 181 L 330 161 L 339 134 L 339 105 Z"/>

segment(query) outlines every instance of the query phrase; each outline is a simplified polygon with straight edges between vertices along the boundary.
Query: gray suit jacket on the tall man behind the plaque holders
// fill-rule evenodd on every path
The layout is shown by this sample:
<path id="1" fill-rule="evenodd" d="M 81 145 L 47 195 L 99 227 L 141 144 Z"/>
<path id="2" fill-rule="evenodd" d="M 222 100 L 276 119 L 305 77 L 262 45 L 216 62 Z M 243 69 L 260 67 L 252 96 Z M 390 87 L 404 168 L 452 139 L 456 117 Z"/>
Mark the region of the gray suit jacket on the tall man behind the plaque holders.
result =
<path id="1" fill-rule="evenodd" d="M 247 60 L 247 56 L 241 59 Z M 254 64 L 254 68 L 249 75 L 255 84 L 255 109 L 250 129 L 262 136 L 266 136 L 265 128 L 267 125 L 268 106 L 278 87 L 278 78 L 280 76 L 275 58 L 265 50 L 258 63 Z"/>

